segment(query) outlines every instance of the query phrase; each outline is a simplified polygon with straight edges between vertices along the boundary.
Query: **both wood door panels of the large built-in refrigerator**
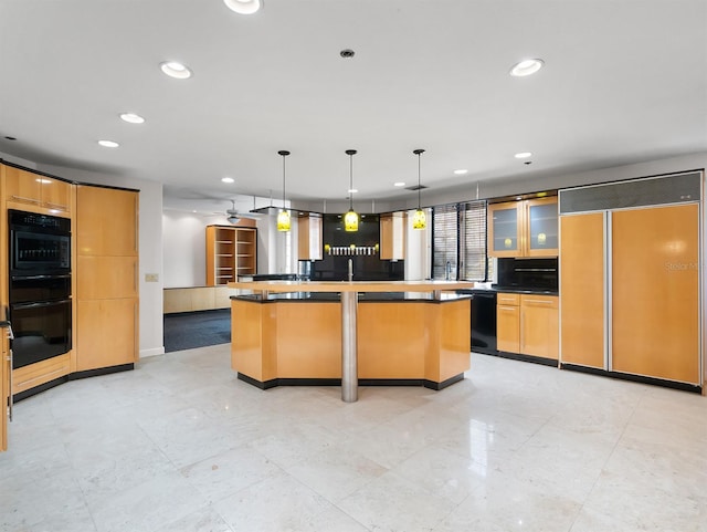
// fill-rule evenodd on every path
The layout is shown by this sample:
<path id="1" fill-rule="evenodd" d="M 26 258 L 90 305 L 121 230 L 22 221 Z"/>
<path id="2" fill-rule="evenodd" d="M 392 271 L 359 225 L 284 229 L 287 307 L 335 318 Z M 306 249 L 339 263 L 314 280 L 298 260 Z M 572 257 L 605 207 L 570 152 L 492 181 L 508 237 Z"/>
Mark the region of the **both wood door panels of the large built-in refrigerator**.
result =
<path id="1" fill-rule="evenodd" d="M 561 362 L 700 383 L 699 206 L 561 217 Z"/>

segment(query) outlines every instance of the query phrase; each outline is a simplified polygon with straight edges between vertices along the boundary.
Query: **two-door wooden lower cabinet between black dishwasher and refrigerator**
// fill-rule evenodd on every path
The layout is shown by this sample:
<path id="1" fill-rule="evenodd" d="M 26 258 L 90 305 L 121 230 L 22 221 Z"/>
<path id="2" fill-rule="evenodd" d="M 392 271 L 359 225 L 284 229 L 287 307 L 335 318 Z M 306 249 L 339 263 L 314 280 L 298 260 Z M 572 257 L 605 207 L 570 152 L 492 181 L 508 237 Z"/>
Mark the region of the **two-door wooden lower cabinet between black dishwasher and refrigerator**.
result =
<path id="1" fill-rule="evenodd" d="M 499 293 L 496 314 L 498 351 L 558 359 L 557 296 Z"/>

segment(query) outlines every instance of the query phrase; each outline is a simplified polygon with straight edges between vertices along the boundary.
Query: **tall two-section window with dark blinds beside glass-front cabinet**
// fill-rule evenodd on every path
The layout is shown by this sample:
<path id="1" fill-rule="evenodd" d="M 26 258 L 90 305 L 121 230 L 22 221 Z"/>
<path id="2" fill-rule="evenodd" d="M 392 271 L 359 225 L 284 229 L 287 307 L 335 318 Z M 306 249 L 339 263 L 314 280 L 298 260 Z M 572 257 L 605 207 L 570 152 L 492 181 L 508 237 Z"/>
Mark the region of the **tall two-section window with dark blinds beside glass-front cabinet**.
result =
<path id="1" fill-rule="evenodd" d="M 432 220 L 432 279 L 485 281 L 486 201 L 434 207 Z"/>

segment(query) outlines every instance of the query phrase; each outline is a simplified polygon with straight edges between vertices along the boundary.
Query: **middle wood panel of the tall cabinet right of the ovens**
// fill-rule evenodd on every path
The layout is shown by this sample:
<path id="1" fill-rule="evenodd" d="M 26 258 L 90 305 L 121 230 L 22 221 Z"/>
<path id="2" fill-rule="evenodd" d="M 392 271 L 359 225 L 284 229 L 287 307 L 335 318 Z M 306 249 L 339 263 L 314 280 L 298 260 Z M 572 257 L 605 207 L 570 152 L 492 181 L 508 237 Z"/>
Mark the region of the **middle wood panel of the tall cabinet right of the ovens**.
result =
<path id="1" fill-rule="evenodd" d="M 83 257 L 76 267 L 80 300 L 138 296 L 137 257 Z"/>

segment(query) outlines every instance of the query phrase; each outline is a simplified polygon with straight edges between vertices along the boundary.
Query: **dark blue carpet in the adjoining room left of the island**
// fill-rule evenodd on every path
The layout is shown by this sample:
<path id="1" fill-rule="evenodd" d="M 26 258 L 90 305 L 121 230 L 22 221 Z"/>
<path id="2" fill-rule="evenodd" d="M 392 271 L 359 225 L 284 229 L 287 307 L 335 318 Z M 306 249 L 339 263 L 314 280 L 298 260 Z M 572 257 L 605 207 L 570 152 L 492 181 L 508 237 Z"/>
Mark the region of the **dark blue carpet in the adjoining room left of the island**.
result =
<path id="1" fill-rule="evenodd" d="M 165 315 L 165 353 L 231 342 L 231 309 Z"/>

